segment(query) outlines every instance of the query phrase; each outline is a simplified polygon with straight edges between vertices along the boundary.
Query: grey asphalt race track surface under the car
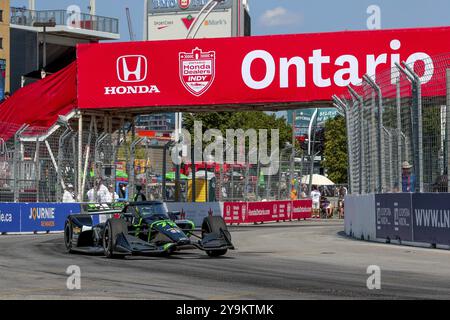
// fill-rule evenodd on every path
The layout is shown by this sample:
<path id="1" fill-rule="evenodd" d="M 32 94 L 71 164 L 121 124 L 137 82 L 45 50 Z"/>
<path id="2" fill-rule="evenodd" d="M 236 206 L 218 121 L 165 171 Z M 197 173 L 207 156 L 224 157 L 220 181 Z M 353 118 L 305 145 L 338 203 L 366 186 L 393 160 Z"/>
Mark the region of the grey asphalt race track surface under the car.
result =
<path id="1" fill-rule="evenodd" d="M 450 299 L 450 251 L 348 239 L 339 221 L 231 228 L 223 258 L 65 253 L 63 236 L 0 236 L 0 299 Z M 81 268 L 81 290 L 66 269 Z M 369 265 L 381 290 L 368 290 Z"/>

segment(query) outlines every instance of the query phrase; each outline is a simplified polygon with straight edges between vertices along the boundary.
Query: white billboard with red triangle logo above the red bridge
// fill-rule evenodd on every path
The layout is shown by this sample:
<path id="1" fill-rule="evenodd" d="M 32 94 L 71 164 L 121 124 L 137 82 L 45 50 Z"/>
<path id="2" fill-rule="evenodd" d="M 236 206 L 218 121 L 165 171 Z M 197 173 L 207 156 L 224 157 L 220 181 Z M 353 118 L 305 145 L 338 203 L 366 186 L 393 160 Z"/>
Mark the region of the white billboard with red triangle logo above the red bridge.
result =
<path id="1" fill-rule="evenodd" d="M 149 40 L 185 39 L 197 13 L 182 12 L 171 15 L 149 15 Z M 200 27 L 196 38 L 224 38 L 232 36 L 231 9 L 211 12 Z"/>

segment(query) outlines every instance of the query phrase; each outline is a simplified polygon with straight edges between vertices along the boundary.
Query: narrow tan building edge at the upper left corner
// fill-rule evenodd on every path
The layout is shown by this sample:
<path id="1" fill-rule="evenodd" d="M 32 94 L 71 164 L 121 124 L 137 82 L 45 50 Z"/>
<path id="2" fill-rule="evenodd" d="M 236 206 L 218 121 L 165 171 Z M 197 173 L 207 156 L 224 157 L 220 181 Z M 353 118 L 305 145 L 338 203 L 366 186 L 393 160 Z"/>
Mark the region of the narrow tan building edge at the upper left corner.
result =
<path id="1" fill-rule="evenodd" d="M 10 91 L 10 25 L 9 0 L 0 1 L 0 99 Z"/>

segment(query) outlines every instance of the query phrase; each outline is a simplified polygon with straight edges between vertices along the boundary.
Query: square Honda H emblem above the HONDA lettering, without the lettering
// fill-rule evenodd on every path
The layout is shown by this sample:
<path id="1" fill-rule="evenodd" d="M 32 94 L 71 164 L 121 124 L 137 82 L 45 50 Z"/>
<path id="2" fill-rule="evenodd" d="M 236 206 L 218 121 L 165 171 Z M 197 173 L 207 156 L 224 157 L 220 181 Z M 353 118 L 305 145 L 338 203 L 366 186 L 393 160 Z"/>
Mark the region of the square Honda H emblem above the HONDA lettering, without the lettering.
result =
<path id="1" fill-rule="evenodd" d="M 122 82 L 141 82 L 147 78 L 147 58 L 141 55 L 117 59 L 117 77 Z"/>

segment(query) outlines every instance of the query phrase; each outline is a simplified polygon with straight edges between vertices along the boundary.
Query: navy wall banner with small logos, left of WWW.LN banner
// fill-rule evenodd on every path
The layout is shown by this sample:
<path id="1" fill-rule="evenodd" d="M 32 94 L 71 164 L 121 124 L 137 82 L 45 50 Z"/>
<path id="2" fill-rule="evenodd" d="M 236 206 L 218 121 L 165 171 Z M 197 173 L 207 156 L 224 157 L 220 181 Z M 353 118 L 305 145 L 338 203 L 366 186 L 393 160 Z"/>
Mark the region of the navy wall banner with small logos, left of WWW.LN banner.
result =
<path id="1" fill-rule="evenodd" d="M 413 241 L 411 193 L 376 194 L 376 236 Z"/>

